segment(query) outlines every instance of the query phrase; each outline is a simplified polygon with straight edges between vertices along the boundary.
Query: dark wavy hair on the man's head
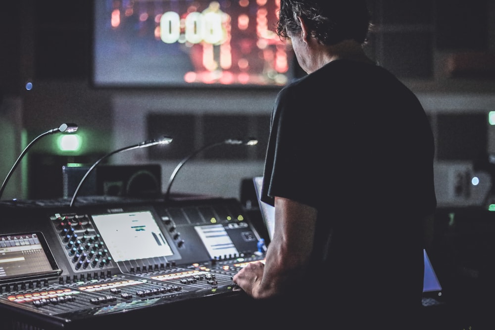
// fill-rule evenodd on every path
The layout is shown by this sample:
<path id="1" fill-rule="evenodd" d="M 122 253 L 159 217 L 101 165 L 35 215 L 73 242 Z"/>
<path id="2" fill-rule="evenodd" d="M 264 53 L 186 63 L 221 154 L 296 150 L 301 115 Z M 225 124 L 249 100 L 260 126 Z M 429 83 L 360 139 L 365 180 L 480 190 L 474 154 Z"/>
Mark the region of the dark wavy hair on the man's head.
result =
<path id="1" fill-rule="evenodd" d="M 298 33 L 306 22 L 311 36 L 320 44 L 335 45 L 344 40 L 367 41 L 371 16 L 366 0 L 280 0 L 276 31 L 280 38 Z"/>

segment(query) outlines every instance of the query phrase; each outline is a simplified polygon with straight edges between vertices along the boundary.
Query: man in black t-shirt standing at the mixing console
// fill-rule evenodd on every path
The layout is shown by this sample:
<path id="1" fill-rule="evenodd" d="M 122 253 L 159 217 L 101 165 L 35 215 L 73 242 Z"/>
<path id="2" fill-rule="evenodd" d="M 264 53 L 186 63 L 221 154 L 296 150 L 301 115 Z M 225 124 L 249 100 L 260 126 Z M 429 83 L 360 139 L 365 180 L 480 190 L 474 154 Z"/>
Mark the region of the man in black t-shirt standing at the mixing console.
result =
<path id="1" fill-rule="evenodd" d="M 280 2 L 277 33 L 307 75 L 272 112 L 263 198 L 276 220 L 265 263 L 234 283 L 274 306 L 273 325 L 413 329 L 436 207 L 427 116 L 365 55 L 365 0 Z"/>

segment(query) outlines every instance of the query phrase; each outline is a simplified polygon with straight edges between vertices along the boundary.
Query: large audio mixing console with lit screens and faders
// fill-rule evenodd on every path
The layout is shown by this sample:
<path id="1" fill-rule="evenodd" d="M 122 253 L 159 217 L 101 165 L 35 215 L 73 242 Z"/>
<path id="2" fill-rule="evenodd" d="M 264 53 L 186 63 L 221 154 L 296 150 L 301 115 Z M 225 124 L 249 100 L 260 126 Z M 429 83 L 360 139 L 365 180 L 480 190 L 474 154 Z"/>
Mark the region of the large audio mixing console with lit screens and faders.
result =
<path id="1" fill-rule="evenodd" d="M 236 199 L 80 204 L 0 203 L 1 329 L 200 322 L 239 295 L 232 276 L 264 258 Z"/>

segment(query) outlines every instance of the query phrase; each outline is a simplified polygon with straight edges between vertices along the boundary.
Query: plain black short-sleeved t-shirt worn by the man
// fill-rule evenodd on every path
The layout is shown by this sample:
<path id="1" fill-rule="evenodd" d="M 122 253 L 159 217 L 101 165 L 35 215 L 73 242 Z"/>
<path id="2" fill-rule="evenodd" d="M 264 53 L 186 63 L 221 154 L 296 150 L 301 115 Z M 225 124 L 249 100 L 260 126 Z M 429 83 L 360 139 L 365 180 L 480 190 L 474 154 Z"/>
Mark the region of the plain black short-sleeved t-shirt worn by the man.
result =
<path id="1" fill-rule="evenodd" d="M 419 219 L 436 207 L 433 157 L 423 107 L 382 67 L 332 61 L 278 94 L 263 200 L 318 210 L 304 282 L 323 281 L 314 294 L 326 305 L 421 302 Z"/>

